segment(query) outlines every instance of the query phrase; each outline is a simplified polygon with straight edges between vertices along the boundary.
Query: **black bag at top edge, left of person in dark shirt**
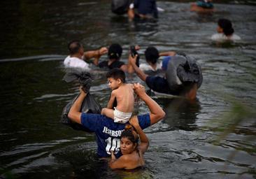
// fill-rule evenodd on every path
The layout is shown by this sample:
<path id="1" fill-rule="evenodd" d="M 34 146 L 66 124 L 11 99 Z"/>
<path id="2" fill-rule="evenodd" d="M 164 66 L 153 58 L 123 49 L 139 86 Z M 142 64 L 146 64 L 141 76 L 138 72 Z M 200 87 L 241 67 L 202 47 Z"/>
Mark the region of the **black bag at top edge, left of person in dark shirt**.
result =
<path id="1" fill-rule="evenodd" d="M 130 3 L 130 0 L 112 0 L 111 10 L 115 14 L 123 15 L 127 13 Z"/>

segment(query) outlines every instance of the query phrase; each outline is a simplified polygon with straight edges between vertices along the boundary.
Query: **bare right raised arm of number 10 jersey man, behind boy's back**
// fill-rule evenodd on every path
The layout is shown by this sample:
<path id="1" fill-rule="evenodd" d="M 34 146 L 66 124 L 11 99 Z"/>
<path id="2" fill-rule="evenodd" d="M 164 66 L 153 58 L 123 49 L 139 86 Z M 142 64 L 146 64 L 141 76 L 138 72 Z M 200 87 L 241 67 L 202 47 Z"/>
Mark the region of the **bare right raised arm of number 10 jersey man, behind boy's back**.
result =
<path id="1" fill-rule="evenodd" d="M 134 92 L 145 102 L 150 110 L 150 125 L 157 123 L 165 116 L 164 110 L 162 110 L 159 104 L 145 93 L 143 85 L 139 83 L 134 84 Z"/>

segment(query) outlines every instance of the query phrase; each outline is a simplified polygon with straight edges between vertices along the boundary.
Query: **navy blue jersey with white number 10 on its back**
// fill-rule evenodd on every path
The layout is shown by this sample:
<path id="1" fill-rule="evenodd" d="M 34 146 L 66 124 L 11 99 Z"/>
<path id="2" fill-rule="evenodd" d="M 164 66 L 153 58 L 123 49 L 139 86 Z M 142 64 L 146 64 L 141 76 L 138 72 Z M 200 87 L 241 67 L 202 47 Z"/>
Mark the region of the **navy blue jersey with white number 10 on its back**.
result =
<path id="1" fill-rule="evenodd" d="M 141 129 L 150 126 L 150 115 L 138 115 L 138 123 Z M 115 157 L 122 155 L 120 151 L 120 136 L 125 130 L 125 124 L 114 122 L 111 118 L 99 114 L 82 113 L 81 124 L 97 136 L 97 154 L 99 157 L 110 157 L 114 151 Z"/>

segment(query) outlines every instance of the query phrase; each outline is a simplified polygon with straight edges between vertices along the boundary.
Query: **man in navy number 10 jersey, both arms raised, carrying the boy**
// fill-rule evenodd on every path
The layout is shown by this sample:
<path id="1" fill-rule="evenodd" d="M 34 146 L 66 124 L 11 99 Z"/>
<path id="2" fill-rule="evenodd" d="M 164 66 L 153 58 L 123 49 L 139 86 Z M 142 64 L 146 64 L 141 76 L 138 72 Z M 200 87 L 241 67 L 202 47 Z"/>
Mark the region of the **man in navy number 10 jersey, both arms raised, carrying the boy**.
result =
<path id="1" fill-rule="evenodd" d="M 142 85 L 134 84 L 134 92 L 150 110 L 147 114 L 133 116 L 138 118 L 141 128 L 145 129 L 159 122 L 165 115 L 164 110 L 145 93 L 145 88 Z M 122 131 L 125 130 L 125 124 L 114 122 L 106 115 L 80 113 L 81 105 L 86 96 L 87 94 L 80 88 L 80 95 L 69 111 L 69 118 L 96 134 L 99 157 L 111 157 L 111 151 L 115 153 L 115 157 L 120 157 L 122 155 L 120 152 L 120 138 Z"/>

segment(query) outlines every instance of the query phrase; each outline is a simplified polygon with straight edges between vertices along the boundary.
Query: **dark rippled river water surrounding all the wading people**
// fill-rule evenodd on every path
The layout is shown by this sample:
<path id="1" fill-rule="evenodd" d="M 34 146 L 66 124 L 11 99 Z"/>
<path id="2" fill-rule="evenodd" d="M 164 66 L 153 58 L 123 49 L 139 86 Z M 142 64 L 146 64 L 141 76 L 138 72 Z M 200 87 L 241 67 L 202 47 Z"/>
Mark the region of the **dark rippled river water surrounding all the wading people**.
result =
<path id="1" fill-rule="evenodd" d="M 1 177 L 256 178 L 255 115 L 239 115 L 241 108 L 255 114 L 255 2 L 216 1 L 213 14 L 190 12 L 188 1 L 157 3 L 165 10 L 159 20 L 129 22 L 111 13 L 110 1 L 1 1 Z M 221 17 L 232 20 L 239 43 L 210 40 Z M 85 50 L 120 43 L 123 62 L 129 45 L 138 44 L 141 62 L 145 48 L 155 45 L 201 64 L 204 82 L 196 101 L 152 94 L 166 117 L 145 129 L 150 147 L 144 169 L 112 171 L 97 158 L 93 134 L 59 123 L 62 109 L 78 94 L 76 83 L 62 80 L 66 45 L 73 39 Z M 106 71 L 91 72 L 91 93 L 106 106 Z M 148 112 L 145 104 L 136 108 Z M 237 116 L 243 121 L 218 140 Z"/>

